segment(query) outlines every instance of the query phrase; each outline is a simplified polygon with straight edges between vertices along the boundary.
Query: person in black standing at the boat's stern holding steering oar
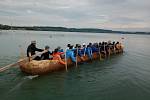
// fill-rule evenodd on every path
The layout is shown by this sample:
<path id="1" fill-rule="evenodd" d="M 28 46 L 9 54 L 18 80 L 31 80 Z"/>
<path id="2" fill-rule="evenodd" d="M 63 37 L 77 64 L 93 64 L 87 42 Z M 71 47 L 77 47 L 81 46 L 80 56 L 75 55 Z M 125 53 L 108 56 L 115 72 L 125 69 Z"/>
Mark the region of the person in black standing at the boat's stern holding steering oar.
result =
<path id="1" fill-rule="evenodd" d="M 29 57 L 29 61 L 32 60 L 32 55 L 35 55 L 35 51 L 42 52 L 43 49 L 36 48 L 36 41 L 31 41 L 31 44 L 27 48 L 27 57 Z M 40 60 L 41 58 L 39 56 L 36 56 L 34 60 Z"/>

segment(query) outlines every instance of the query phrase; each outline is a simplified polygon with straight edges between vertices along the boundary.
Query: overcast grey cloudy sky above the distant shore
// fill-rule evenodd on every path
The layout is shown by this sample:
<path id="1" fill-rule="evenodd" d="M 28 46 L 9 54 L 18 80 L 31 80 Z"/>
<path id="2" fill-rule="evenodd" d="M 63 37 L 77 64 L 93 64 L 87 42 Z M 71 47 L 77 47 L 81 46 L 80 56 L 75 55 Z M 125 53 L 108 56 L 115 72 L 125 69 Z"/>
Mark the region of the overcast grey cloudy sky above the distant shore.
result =
<path id="1" fill-rule="evenodd" d="M 150 31 L 150 0 L 0 0 L 0 24 Z"/>

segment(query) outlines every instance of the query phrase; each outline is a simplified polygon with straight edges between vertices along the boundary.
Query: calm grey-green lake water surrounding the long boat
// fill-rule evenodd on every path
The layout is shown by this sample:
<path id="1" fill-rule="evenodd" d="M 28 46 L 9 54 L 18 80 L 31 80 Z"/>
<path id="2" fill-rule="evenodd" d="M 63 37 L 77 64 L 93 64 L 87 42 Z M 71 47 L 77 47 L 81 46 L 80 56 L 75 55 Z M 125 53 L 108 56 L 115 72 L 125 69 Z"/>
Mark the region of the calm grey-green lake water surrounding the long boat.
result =
<path id="1" fill-rule="evenodd" d="M 124 37 L 124 40 L 121 38 Z M 51 49 L 83 42 L 120 41 L 125 52 L 32 78 L 16 66 L 0 73 L 0 100 L 150 100 L 150 35 L 2 31 L 0 66 L 17 61 L 31 40 Z"/>

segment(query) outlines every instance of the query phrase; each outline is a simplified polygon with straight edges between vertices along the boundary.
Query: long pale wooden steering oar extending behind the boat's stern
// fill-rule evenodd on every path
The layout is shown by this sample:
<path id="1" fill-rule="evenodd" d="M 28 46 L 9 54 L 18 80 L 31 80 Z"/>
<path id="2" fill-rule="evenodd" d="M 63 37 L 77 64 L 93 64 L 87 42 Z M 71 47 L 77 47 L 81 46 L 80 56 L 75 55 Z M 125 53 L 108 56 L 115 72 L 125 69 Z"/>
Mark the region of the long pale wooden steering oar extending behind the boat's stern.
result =
<path id="1" fill-rule="evenodd" d="M 45 52 L 47 52 L 47 50 L 44 50 L 43 52 L 40 52 L 40 53 L 37 53 L 37 54 L 33 55 L 33 56 L 32 56 L 32 59 L 34 59 L 36 56 L 41 55 L 41 54 L 43 54 L 43 53 L 45 53 Z M 3 71 L 5 71 L 5 70 L 7 70 L 7 69 L 9 69 L 9 68 L 11 68 L 11 67 L 13 67 L 13 66 L 16 66 L 16 65 L 18 65 L 20 62 L 25 61 L 25 60 L 28 60 L 28 59 L 29 59 L 28 57 L 25 57 L 25 58 L 23 58 L 23 59 L 18 60 L 18 61 L 15 62 L 15 63 L 9 64 L 9 65 L 4 66 L 4 67 L 1 67 L 1 68 L 0 68 L 0 72 L 3 72 Z"/>

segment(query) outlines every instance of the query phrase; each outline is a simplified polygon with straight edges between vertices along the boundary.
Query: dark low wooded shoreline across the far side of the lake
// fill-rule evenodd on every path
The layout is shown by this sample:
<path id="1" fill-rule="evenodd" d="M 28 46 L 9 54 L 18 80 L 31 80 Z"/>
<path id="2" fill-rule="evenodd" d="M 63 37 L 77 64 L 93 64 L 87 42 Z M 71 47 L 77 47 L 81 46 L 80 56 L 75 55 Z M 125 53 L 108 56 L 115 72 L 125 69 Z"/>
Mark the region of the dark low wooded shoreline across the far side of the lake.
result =
<path id="1" fill-rule="evenodd" d="M 115 34 L 146 34 L 150 32 L 128 32 L 113 31 L 98 28 L 66 28 L 66 27 L 49 27 L 49 26 L 9 26 L 0 24 L 0 30 L 30 30 L 30 31 L 58 31 L 58 32 L 83 32 L 83 33 L 115 33 Z"/>

